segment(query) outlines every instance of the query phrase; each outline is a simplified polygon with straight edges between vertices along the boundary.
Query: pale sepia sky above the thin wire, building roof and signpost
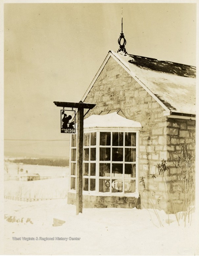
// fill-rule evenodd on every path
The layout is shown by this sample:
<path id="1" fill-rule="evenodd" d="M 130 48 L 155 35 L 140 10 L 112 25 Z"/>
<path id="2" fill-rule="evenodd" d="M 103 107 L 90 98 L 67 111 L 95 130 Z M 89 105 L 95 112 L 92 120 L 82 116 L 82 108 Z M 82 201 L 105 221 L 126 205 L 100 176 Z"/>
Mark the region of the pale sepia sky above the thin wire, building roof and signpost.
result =
<path id="1" fill-rule="evenodd" d="M 130 54 L 196 65 L 196 4 L 4 4 L 4 138 L 60 140 L 60 108 L 79 102 L 123 33 Z"/>

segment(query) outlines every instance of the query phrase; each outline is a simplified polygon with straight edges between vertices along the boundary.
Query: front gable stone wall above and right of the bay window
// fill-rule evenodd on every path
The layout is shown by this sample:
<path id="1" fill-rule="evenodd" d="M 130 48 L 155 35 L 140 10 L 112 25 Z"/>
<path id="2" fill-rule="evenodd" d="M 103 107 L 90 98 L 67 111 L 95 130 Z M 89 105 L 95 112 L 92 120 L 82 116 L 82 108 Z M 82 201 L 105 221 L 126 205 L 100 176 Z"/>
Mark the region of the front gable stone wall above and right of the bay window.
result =
<path id="1" fill-rule="evenodd" d="M 121 109 L 128 119 L 141 123 L 139 181 L 143 177 L 145 185 L 144 190 L 143 183 L 139 183 L 141 208 L 152 208 L 152 204 L 157 202 L 154 195 L 162 187 L 162 180 L 151 178 L 149 170 L 160 163 L 161 159 L 166 159 L 167 118 L 163 116 L 164 109 L 112 57 L 103 68 L 85 102 L 96 104 L 86 117 L 98 115 L 101 111 Z"/>

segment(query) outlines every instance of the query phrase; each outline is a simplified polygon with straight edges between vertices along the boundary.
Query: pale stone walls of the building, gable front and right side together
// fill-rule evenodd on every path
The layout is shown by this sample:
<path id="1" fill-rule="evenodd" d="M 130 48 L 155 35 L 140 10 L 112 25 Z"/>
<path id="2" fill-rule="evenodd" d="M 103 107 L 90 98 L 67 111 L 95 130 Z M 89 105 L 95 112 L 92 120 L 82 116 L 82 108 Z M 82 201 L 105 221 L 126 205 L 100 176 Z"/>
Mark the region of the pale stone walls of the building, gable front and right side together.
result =
<path id="1" fill-rule="evenodd" d="M 98 115 L 101 111 L 121 109 L 128 119 L 141 123 L 137 156 L 140 207 L 155 207 L 165 212 L 173 212 L 170 199 L 180 206 L 183 195 L 180 198 L 174 192 L 174 181 L 179 184 L 181 181 L 172 159 L 180 153 L 182 143 L 187 143 L 189 152 L 193 154 L 195 121 L 163 116 L 162 106 L 112 57 L 101 71 L 85 102 L 96 104 L 86 117 Z M 159 175 L 156 167 L 163 159 L 168 166 L 164 177 Z"/>

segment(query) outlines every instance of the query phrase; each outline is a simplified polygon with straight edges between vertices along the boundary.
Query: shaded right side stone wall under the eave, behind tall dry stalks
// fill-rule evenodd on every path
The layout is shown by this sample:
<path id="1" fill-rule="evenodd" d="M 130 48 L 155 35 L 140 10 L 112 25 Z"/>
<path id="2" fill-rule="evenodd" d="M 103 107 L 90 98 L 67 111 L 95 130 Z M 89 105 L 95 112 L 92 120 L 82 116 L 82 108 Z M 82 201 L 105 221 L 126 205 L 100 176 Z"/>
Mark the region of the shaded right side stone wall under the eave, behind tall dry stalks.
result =
<path id="1" fill-rule="evenodd" d="M 181 188 L 184 181 L 181 177 L 182 171 L 174 165 L 174 158 L 181 156 L 182 145 L 186 145 L 188 154 L 195 157 L 195 120 L 168 118 L 167 143 L 167 183 L 170 188 L 167 207 L 173 212 L 172 204 L 175 204 L 176 210 L 182 211 L 185 194 Z M 191 167 L 190 163 L 188 165 Z"/>

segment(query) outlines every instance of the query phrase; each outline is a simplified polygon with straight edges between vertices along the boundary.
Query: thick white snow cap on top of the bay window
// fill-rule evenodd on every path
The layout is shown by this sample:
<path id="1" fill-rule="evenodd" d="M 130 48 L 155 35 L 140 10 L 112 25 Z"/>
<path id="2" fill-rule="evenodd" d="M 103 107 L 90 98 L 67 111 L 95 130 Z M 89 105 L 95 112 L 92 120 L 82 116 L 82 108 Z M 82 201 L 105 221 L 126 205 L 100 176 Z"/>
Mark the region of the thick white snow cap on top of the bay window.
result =
<path id="1" fill-rule="evenodd" d="M 141 128 L 139 122 L 127 119 L 116 112 L 106 115 L 90 115 L 84 119 L 84 128 Z"/>

